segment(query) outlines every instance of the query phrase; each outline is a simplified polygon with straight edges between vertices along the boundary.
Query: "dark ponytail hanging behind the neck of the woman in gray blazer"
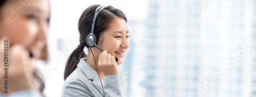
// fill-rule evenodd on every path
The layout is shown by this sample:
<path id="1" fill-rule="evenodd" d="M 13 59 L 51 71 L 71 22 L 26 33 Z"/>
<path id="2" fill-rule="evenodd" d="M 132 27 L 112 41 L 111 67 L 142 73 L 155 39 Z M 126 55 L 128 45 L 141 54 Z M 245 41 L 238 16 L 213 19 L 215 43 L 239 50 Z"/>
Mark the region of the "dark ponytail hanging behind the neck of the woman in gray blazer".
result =
<path id="1" fill-rule="evenodd" d="M 81 58 L 87 57 L 86 53 L 83 51 L 84 46 L 78 45 L 78 47 L 69 56 L 68 62 L 65 67 L 64 81 L 69 77 L 69 75 L 76 69 L 77 64 Z"/>

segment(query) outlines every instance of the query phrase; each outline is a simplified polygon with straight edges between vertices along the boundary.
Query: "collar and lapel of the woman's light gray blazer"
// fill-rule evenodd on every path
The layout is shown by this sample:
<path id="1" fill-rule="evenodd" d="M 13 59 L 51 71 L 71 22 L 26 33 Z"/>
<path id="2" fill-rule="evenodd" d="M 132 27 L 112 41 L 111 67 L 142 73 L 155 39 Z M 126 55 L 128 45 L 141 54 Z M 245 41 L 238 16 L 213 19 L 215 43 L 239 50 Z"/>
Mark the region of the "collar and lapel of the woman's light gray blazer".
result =
<path id="1" fill-rule="evenodd" d="M 87 79 L 93 80 L 93 86 L 100 92 L 103 96 L 103 89 L 100 83 L 100 79 L 98 77 L 97 72 L 86 62 L 87 58 L 81 58 L 77 67 L 79 67 L 84 75 L 86 75 Z"/>

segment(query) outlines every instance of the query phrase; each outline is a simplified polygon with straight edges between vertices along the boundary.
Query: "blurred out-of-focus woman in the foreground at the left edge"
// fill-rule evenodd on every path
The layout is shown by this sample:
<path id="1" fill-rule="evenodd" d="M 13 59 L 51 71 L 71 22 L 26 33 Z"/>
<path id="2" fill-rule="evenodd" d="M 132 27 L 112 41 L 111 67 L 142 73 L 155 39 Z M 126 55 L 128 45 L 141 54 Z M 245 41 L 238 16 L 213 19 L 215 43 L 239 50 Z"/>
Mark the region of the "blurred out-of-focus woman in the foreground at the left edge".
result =
<path id="1" fill-rule="evenodd" d="M 0 96 L 42 96 L 33 62 L 48 59 L 49 1 L 2 0 L 0 13 Z"/>

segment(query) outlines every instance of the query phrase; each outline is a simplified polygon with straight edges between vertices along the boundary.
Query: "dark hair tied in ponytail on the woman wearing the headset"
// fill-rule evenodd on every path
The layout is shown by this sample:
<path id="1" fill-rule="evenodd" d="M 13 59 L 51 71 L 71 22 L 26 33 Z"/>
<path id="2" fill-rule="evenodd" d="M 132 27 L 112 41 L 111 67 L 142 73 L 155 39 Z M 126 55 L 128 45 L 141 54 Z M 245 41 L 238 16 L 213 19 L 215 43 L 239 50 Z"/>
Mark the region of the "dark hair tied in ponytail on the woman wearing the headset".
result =
<path id="1" fill-rule="evenodd" d="M 72 52 L 69 56 L 68 62 L 65 67 L 64 80 L 68 78 L 68 76 L 76 69 L 77 64 L 81 58 L 87 57 L 84 53 L 84 47 L 89 48 L 86 43 L 87 36 L 91 33 L 93 17 L 95 14 L 95 10 L 100 5 L 93 5 L 86 10 L 83 11 L 79 21 L 78 21 L 78 31 L 80 33 L 80 44 L 77 48 Z M 95 22 L 94 34 L 99 41 L 99 37 L 102 32 L 109 28 L 109 24 L 116 17 L 123 18 L 126 22 L 126 17 L 122 11 L 119 9 L 115 9 L 112 6 L 105 7 L 97 16 L 97 20 Z M 96 43 L 97 44 L 97 43 Z M 89 49 L 88 49 L 89 50 Z"/>

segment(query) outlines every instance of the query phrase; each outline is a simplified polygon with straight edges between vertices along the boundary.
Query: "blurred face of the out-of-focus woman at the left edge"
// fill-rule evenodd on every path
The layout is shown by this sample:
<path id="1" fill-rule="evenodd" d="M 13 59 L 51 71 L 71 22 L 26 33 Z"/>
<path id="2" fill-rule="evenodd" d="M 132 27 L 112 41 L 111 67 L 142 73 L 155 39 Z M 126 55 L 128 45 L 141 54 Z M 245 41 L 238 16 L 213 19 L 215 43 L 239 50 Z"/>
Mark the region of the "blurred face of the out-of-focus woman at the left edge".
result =
<path id="1" fill-rule="evenodd" d="M 47 42 L 49 1 L 7 1 L 0 12 L 0 37 L 7 36 L 11 45 L 21 44 L 33 57 L 40 58 Z"/>

